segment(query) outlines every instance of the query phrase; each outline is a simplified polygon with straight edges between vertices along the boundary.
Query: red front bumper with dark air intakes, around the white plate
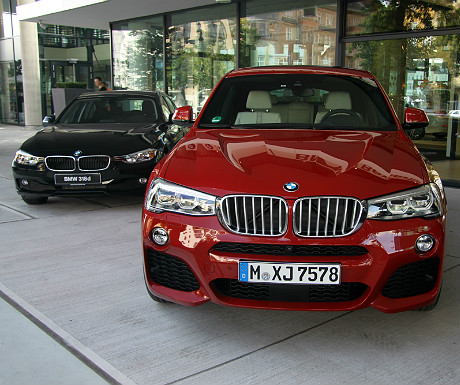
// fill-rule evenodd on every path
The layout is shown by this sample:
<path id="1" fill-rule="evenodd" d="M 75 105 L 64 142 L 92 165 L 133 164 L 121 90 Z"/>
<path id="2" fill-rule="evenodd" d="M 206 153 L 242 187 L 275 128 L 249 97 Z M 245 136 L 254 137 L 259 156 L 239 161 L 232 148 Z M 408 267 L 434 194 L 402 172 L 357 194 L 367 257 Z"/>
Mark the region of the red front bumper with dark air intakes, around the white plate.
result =
<path id="1" fill-rule="evenodd" d="M 154 227 L 168 232 L 168 245 L 152 242 Z M 399 312 L 427 306 L 436 299 L 444 230 L 445 217 L 414 218 L 366 220 L 356 233 L 338 238 L 299 238 L 292 230 L 282 237 L 252 237 L 228 232 L 217 217 L 157 214 L 144 209 L 144 272 L 153 295 L 189 306 L 212 301 L 261 309 L 347 311 L 371 306 Z M 423 234 L 436 240 L 435 247 L 425 254 L 414 248 Z M 298 247 L 303 249 L 295 252 Z M 342 284 L 243 284 L 238 281 L 240 260 L 338 262 Z"/>

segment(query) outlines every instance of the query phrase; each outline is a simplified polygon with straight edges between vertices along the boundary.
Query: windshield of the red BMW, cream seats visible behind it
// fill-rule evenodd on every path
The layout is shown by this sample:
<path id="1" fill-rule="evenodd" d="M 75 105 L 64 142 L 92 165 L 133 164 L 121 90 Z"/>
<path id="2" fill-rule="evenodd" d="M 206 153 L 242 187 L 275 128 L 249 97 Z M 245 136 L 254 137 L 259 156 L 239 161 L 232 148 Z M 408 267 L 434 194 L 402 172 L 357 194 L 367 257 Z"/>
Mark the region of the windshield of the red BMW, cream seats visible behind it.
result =
<path id="1" fill-rule="evenodd" d="M 200 128 L 396 130 L 372 79 L 280 74 L 227 78 L 212 96 Z"/>

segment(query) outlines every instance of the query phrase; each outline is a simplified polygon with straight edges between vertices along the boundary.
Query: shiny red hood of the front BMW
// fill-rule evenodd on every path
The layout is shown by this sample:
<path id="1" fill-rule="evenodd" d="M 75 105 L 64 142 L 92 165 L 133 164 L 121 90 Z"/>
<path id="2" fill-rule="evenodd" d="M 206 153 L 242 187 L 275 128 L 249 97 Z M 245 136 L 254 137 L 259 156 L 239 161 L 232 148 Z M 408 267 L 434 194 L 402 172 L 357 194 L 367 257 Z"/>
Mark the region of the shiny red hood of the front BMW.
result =
<path id="1" fill-rule="evenodd" d="M 169 158 L 164 177 L 217 196 L 366 199 L 422 184 L 420 164 L 397 131 L 196 130 Z M 299 189 L 286 192 L 288 182 Z"/>

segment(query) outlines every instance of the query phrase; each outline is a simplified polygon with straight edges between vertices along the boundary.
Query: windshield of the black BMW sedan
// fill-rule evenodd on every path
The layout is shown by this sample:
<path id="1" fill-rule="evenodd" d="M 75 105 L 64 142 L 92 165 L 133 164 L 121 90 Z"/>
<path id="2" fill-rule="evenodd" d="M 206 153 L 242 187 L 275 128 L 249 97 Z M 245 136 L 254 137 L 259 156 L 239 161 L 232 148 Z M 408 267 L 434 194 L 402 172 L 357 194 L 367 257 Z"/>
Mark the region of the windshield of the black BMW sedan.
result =
<path id="1" fill-rule="evenodd" d="M 157 109 L 152 98 L 95 96 L 73 102 L 57 123 L 153 123 L 157 120 Z"/>

